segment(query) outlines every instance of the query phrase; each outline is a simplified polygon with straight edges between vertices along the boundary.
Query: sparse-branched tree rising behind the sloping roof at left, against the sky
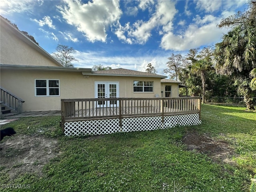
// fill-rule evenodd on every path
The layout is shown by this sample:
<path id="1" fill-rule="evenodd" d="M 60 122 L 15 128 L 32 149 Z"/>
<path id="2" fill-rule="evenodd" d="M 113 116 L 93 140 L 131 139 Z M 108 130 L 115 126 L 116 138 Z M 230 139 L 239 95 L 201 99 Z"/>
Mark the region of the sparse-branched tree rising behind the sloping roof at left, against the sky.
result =
<path id="1" fill-rule="evenodd" d="M 74 67 L 71 62 L 78 61 L 72 56 L 72 53 L 76 52 L 72 47 L 58 44 L 56 51 L 57 52 L 53 53 L 53 57 L 65 67 Z"/>

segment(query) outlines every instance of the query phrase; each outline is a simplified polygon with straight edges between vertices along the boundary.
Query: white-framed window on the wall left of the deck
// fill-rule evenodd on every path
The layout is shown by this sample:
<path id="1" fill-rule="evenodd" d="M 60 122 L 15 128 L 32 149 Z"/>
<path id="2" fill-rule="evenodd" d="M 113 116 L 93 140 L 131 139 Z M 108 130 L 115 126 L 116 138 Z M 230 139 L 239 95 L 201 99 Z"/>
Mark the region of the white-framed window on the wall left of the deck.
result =
<path id="1" fill-rule="evenodd" d="M 35 96 L 60 96 L 59 80 L 36 79 Z"/>

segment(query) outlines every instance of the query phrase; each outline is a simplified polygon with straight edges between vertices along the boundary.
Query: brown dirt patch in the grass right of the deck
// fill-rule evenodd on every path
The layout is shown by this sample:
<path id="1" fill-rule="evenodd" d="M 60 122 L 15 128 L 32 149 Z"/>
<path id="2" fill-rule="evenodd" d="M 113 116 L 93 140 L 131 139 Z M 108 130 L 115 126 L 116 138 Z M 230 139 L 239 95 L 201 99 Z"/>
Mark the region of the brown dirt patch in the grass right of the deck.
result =
<path id="1" fill-rule="evenodd" d="M 235 154 L 234 148 L 227 141 L 214 140 L 206 134 L 188 131 L 182 142 L 187 145 L 187 150 L 207 154 L 216 162 L 233 163 L 230 158 Z"/>

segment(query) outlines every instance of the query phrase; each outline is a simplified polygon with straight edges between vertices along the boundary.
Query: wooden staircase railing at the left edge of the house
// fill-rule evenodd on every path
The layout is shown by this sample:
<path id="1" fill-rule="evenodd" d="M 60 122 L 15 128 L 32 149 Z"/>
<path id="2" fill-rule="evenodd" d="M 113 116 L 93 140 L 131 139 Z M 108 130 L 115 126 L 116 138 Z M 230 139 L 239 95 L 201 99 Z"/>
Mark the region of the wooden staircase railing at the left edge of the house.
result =
<path id="1" fill-rule="evenodd" d="M 18 113 L 22 113 L 22 104 L 25 101 L 2 87 L 0 87 L 0 100 L 1 104 L 4 106 L 7 106 Z"/>

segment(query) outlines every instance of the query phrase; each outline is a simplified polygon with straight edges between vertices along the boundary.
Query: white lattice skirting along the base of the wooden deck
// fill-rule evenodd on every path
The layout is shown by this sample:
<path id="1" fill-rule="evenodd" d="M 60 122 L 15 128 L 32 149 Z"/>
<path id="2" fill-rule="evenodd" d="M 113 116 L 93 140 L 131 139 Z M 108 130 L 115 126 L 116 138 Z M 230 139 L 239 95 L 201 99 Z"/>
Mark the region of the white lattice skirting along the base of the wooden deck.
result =
<path id="1" fill-rule="evenodd" d="M 66 136 L 101 135 L 198 124 L 201 124 L 199 114 L 164 116 L 164 123 L 160 116 L 123 118 L 122 127 L 119 126 L 119 119 L 85 120 L 65 122 L 64 134 Z"/>

